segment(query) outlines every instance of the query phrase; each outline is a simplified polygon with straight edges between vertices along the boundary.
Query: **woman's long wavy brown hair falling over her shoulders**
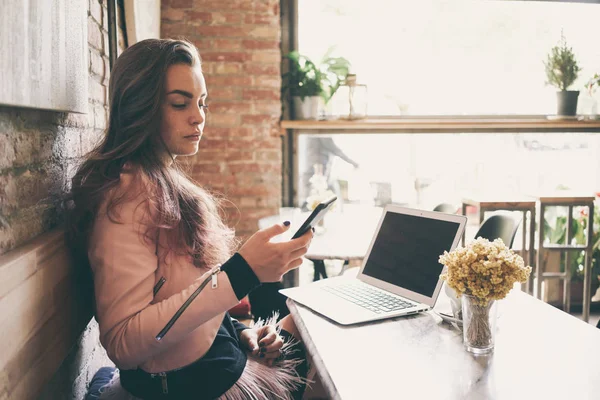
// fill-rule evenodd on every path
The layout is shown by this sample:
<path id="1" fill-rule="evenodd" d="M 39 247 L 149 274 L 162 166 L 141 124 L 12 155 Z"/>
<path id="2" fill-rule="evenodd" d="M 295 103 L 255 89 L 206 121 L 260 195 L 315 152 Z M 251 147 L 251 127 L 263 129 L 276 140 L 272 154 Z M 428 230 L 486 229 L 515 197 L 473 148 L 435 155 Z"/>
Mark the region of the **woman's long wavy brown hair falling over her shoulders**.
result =
<path id="1" fill-rule="evenodd" d="M 141 232 L 146 240 L 154 242 L 164 231 L 168 251 L 189 254 L 197 267 L 211 267 L 231 255 L 236 242 L 222 221 L 218 199 L 195 184 L 176 161 L 166 166 L 164 156 L 161 160 L 161 154 L 170 154 L 159 128 L 167 69 L 200 62 L 194 45 L 170 39 L 143 40 L 117 59 L 110 77 L 106 134 L 84 158 L 68 196 L 67 240 L 77 259 L 87 260 L 87 241 L 100 205 L 130 167 L 137 182 L 143 182 L 136 187 L 144 188 L 145 206 L 151 210 L 147 230 Z M 108 217 L 118 222 L 116 207 L 139 195 L 110 196 Z"/>

